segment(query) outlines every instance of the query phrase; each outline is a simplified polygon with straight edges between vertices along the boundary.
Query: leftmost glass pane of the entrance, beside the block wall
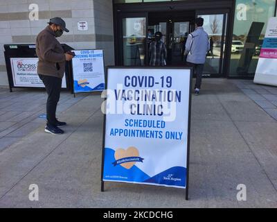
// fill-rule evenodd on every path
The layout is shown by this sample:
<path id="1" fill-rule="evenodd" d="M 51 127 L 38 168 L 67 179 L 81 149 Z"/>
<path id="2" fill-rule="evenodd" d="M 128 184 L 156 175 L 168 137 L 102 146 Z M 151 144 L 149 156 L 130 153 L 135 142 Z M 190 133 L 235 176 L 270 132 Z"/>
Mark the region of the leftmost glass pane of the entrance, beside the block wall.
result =
<path id="1" fill-rule="evenodd" d="M 145 65 L 145 27 L 145 17 L 123 19 L 123 65 Z"/>

